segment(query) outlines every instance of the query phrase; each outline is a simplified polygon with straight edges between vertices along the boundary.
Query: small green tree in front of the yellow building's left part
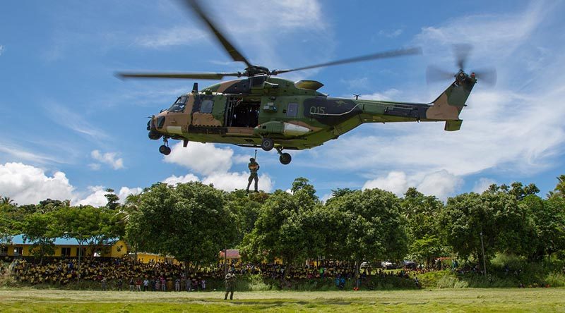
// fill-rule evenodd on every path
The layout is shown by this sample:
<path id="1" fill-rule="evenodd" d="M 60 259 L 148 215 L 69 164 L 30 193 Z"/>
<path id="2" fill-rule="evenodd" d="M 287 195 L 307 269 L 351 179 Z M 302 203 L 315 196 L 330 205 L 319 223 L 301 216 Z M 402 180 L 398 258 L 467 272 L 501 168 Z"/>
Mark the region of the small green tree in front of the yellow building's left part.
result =
<path id="1" fill-rule="evenodd" d="M 32 243 L 30 252 L 40 258 L 55 252 L 54 238 L 57 237 L 57 223 L 52 214 L 35 213 L 25 216 L 21 229 L 24 242 Z"/>

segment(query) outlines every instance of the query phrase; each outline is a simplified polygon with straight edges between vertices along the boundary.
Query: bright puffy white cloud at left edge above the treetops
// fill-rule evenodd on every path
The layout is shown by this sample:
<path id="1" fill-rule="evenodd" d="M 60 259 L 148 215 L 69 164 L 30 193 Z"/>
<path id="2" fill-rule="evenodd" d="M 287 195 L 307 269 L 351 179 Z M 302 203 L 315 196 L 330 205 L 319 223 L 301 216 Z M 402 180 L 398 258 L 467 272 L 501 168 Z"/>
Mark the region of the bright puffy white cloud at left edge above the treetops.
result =
<path id="1" fill-rule="evenodd" d="M 18 204 L 37 204 L 47 198 L 73 199 L 73 186 L 65 173 L 48 176 L 44 170 L 22 163 L 0 164 L 0 195 Z"/>

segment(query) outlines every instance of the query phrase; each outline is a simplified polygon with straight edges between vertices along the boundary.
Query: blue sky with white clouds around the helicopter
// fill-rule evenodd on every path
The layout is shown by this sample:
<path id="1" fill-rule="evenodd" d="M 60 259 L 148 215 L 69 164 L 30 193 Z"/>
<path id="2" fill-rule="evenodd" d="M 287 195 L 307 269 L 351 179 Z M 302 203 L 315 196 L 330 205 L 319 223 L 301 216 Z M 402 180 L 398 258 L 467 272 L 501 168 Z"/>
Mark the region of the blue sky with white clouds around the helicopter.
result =
<path id="1" fill-rule="evenodd" d="M 403 47 L 421 56 L 281 75 L 319 80 L 331 97 L 432 102 L 451 81 L 426 82 L 430 65 L 455 72 L 453 44 L 471 44 L 480 78 L 460 114 L 443 123 L 364 124 L 321 147 L 258 149 L 259 188 L 288 190 L 308 178 L 322 200 L 336 188 L 409 187 L 441 200 L 490 184 L 535 183 L 545 197 L 565 173 L 565 3 L 562 1 L 204 1 L 251 63 L 296 68 Z M 0 11 L 0 195 L 123 201 L 158 182 L 199 180 L 245 188 L 255 150 L 149 140 L 147 116 L 196 80 L 119 80 L 117 71 L 243 70 L 181 1 L 6 1 Z M 201 89 L 215 81 L 198 80 Z"/>

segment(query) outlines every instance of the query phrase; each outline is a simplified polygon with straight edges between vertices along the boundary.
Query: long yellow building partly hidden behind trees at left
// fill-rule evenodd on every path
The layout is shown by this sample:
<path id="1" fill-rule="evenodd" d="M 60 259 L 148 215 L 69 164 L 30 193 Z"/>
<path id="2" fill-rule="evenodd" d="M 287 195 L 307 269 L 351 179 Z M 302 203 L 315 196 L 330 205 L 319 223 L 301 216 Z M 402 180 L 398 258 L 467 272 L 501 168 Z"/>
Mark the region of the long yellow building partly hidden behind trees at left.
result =
<path id="1" fill-rule="evenodd" d="M 32 243 L 24 242 L 22 235 L 16 235 L 13 236 L 11 243 L 0 246 L 0 257 L 30 257 L 31 247 Z M 94 253 L 95 257 L 123 257 L 127 253 L 124 240 L 112 240 L 107 245 L 102 245 L 99 252 L 93 252 L 86 245 L 78 245 L 78 241 L 74 238 L 55 238 L 55 252 L 47 257 L 78 257 L 80 247 L 82 247 L 82 256 L 90 256 Z"/>

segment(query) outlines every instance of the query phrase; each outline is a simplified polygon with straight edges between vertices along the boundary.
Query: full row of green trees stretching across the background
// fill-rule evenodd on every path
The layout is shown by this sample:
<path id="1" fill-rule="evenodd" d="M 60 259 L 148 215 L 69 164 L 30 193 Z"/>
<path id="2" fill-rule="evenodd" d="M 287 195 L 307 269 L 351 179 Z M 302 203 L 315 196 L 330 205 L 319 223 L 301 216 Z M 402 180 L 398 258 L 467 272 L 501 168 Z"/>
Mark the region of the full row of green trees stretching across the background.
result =
<path id="1" fill-rule="evenodd" d="M 90 255 L 112 238 L 133 252 L 174 255 L 188 268 L 218 260 L 238 247 L 251 262 L 306 259 L 362 262 L 414 259 L 431 264 L 456 256 L 477 264 L 496 253 L 532 262 L 564 258 L 565 175 L 540 197 L 533 184 L 491 185 L 444 203 L 409 188 L 403 197 L 379 189 L 333 190 L 326 202 L 306 178 L 290 192 L 225 192 L 199 182 L 157 183 L 124 204 L 107 190 L 105 207 L 71 206 L 44 200 L 18 206 L 0 197 L 0 244 L 23 234 L 37 257 L 52 254 L 54 238 L 76 238 Z M 482 247 L 484 247 L 484 260 Z"/>

